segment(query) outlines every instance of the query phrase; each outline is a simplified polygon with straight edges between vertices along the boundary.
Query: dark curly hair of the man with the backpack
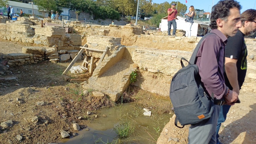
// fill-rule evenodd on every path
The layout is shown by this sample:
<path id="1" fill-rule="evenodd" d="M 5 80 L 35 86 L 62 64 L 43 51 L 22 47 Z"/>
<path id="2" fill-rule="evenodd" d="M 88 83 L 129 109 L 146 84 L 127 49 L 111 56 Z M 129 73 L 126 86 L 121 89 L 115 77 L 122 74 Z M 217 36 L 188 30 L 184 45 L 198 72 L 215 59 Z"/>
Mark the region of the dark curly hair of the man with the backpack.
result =
<path id="1" fill-rule="evenodd" d="M 227 20 L 227 17 L 230 14 L 230 9 L 237 8 L 238 10 L 242 9 L 242 6 L 239 2 L 235 0 L 220 0 L 216 5 L 212 7 L 211 13 L 211 29 L 217 29 L 217 19 Z"/>

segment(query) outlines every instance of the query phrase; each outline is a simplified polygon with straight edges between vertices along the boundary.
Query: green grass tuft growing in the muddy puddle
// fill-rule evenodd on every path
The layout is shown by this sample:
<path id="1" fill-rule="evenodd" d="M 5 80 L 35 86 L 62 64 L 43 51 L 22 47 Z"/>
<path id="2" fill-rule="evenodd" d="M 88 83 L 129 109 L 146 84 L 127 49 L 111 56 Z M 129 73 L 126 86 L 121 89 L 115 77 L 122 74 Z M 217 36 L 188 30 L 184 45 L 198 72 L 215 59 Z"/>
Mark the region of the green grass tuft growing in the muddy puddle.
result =
<path id="1" fill-rule="evenodd" d="M 124 138 L 132 134 L 135 127 L 133 127 L 132 124 L 129 122 L 124 122 L 115 126 L 113 129 L 121 138 Z"/>

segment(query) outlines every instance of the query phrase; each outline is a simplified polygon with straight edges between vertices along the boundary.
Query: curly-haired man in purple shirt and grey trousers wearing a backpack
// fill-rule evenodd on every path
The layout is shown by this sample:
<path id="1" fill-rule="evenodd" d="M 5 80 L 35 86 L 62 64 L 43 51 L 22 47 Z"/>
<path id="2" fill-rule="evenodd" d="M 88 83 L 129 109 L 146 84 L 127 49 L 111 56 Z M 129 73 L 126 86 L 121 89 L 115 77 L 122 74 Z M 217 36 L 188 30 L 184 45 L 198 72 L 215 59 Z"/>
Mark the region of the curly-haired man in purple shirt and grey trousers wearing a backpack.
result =
<path id="1" fill-rule="evenodd" d="M 202 86 L 214 101 L 211 117 L 189 127 L 188 144 L 216 144 L 216 125 L 220 105 L 236 102 L 238 94 L 224 83 L 224 49 L 227 37 L 234 36 L 241 28 L 241 5 L 234 0 L 220 0 L 212 8 L 211 33 L 206 34 L 197 53 L 196 65 L 199 68 Z"/>

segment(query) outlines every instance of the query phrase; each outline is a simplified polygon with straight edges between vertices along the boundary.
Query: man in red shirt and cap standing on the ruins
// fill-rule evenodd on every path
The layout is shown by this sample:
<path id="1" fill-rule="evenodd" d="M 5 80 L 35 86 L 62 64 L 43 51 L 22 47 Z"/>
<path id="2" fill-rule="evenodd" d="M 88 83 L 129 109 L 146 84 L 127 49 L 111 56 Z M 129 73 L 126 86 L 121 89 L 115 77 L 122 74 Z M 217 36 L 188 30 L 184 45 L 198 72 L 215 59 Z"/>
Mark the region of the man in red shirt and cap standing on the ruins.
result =
<path id="1" fill-rule="evenodd" d="M 176 23 L 176 17 L 178 15 L 178 11 L 175 9 L 175 6 L 176 4 L 173 3 L 172 4 L 172 8 L 169 8 L 167 10 L 167 13 L 168 13 L 168 35 L 171 35 L 171 27 L 173 25 L 173 32 L 172 32 L 172 35 L 173 36 L 176 36 L 175 33 L 176 33 L 176 29 L 177 29 L 177 23 Z"/>

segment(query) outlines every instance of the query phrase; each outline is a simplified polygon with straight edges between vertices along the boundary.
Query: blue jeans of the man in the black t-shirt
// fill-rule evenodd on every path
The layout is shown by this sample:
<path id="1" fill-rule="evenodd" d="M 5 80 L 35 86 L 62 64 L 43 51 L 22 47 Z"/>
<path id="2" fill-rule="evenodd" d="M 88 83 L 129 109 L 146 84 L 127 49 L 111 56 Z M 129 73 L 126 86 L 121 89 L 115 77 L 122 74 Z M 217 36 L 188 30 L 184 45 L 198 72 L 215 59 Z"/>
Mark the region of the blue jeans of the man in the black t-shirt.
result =
<path id="1" fill-rule="evenodd" d="M 219 114 L 219 118 L 218 118 L 218 122 L 217 122 L 217 130 L 216 130 L 216 139 L 217 139 L 217 144 L 219 144 L 219 130 L 221 127 L 221 123 L 223 123 L 226 118 L 227 118 L 227 113 L 230 109 L 231 105 L 222 105 L 221 106 L 221 110 L 220 110 L 220 114 Z"/>

